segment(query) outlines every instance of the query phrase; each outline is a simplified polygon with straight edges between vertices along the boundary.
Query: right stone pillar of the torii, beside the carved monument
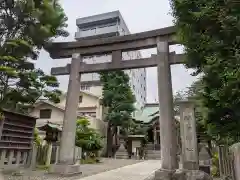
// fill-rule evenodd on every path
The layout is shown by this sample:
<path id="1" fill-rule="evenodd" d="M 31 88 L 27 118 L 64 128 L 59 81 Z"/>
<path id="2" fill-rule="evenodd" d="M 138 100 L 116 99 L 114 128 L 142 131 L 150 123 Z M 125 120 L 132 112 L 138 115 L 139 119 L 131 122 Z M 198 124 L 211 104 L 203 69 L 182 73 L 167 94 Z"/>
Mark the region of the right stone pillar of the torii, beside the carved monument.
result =
<path id="1" fill-rule="evenodd" d="M 168 42 L 158 42 L 157 53 L 162 166 L 161 169 L 155 173 L 155 180 L 170 180 L 172 174 L 178 169 L 178 162 Z"/>

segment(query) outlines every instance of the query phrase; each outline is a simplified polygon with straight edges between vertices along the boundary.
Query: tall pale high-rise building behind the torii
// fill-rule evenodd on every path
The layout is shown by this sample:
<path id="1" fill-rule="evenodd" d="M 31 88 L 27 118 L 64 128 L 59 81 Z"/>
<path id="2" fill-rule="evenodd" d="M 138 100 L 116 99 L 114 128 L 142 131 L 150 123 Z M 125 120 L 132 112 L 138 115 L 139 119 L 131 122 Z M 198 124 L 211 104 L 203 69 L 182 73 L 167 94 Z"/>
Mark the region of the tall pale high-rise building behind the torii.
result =
<path id="1" fill-rule="evenodd" d="M 79 18 L 76 20 L 76 24 L 76 40 L 130 34 L 119 11 Z M 124 60 L 141 58 L 139 51 L 124 52 L 122 56 Z M 85 56 L 83 61 L 88 64 L 109 62 L 111 61 L 111 55 Z M 146 102 L 146 70 L 144 68 L 131 69 L 124 72 L 129 75 L 130 86 L 135 94 L 137 107 L 143 107 Z M 101 95 L 102 87 L 99 74 L 83 74 L 81 76 L 81 90 Z"/>

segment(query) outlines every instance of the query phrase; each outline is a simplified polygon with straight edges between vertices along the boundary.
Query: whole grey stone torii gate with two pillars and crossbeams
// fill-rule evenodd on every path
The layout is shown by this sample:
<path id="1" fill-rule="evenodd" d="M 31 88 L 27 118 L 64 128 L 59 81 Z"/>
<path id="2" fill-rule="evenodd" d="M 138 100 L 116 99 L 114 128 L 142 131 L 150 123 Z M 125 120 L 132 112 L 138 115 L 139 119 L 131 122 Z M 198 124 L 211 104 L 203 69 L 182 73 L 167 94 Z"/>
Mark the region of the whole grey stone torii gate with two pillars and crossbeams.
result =
<path id="1" fill-rule="evenodd" d="M 45 49 L 53 59 L 71 58 L 71 64 L 51 69 L 52 75 L 70 75 L 63 132 L 60 143 L 59 163 L 52 166 L 52 172 L 76 173 L 79 165 L 74 165 L 75 129 L 77 118 L 80 76 L 82 73 L 136 69 L 157 66 L 160 124 L 161 124 L 161 171 L 171 173 L 178 168 L 177 142 L 173 117 L 173 95 L 171 64 L 184 63 L 184 55 L 169 53 L 169 45 L 174 41 L 176 28 L 147 31 L 126 36 L 81 40 L 77 42 L 50 43 Z M 122 60 L 122 52 L 157 47 L 157 55 L 150 58 Z M 99 64 L 86 64 L 82 57 L 87 55 L 112 54 L 112 61 Z"/>

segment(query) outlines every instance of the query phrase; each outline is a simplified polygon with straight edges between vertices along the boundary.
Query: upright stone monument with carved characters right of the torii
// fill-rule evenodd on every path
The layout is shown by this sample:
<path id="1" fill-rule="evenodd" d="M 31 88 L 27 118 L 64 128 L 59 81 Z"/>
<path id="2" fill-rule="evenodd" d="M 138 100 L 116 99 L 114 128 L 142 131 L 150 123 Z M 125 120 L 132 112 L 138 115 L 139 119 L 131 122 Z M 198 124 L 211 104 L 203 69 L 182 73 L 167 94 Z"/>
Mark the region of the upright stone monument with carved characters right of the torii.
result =
<path id="1" fill-rule="evenodd" d="M 182 100 L 180 107 L 180 131 L 182 140 L 182 166 L 174 173 L 176 180 L 210 180 L 209 174 L 199 170 L 199 155 L 196 132 L 194 101 Z"/>

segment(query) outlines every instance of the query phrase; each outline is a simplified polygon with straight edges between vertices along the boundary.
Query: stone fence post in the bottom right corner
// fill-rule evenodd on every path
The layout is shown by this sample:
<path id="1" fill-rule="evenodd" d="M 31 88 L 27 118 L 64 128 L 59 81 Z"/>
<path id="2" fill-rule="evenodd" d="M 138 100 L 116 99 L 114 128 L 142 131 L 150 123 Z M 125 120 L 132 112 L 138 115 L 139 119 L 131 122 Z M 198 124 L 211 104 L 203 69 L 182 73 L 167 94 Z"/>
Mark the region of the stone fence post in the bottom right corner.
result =
<path id="1" fill-rule="evenodd" d="M 234 180 L 240 180 L 240 143 L 236 143 L 230 147 L 233 155 Z"/>

